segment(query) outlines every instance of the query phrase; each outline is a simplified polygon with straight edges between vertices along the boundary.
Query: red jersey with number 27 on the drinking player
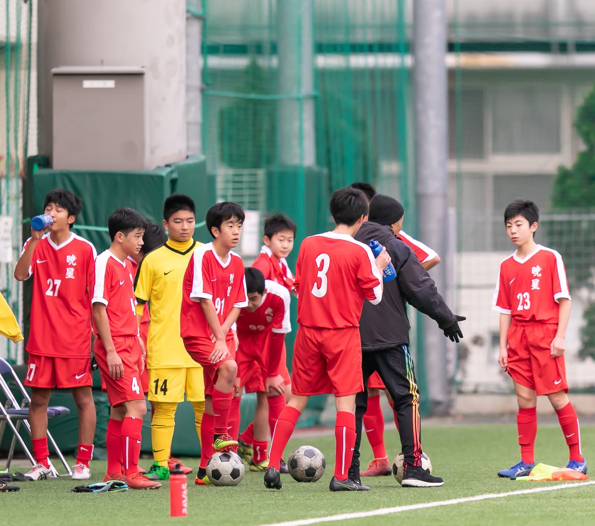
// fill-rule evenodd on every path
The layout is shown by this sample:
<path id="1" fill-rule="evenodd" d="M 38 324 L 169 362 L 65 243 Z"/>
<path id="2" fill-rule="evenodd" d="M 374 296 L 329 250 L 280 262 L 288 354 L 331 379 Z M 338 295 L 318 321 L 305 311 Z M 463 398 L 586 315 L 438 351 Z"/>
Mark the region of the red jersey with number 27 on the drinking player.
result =
<path id="1" fill-rule="evenodd" d="M 61 245 L 49 232 L 39 240 L 29 267 L 33 297 L 27 352 L 58 358 L 90 356 L 89 272 L 96 255 L 95 247 L 73 232 Z"/>

